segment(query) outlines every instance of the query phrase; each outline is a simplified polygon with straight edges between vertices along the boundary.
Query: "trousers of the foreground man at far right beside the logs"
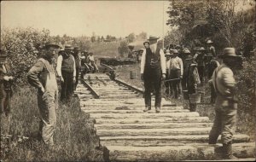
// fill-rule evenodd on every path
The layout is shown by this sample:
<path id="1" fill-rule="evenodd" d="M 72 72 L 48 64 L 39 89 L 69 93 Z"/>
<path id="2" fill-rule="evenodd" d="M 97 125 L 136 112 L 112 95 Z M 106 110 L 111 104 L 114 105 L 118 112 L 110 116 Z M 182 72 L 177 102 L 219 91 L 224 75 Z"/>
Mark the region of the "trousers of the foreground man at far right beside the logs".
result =
<path id="1" fill-rule="evenodd" d="M 226 107 L 224 110 L 215 110 L 215 119 L 209 134 L 209 143 L 215 144 L 221 134 L 224 144 L 232 142 L 236 130 L 236 109 Z"/>

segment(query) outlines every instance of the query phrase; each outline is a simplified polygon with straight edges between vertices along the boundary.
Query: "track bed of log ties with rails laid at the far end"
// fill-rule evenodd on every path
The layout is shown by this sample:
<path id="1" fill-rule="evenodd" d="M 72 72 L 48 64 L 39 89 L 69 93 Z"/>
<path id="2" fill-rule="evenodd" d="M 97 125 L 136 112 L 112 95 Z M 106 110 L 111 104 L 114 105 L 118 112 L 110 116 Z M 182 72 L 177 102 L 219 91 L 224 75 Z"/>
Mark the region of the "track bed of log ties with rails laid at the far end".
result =
<path id="1" fill-rule="evenodd" d="M 208 145 L 212 123 L 162 100 L 160 113 L 143 113 L 143 90 L 102 73 L 86 74 L 75 93 L 80 107 L 94 124 L 107 161 L 215 160 L 220 153 Z M 152 102 L 154 105 L 154 101 Z M 255 160 L 255 142 L 236 134 L 234 154 L 240 160 Z"/>

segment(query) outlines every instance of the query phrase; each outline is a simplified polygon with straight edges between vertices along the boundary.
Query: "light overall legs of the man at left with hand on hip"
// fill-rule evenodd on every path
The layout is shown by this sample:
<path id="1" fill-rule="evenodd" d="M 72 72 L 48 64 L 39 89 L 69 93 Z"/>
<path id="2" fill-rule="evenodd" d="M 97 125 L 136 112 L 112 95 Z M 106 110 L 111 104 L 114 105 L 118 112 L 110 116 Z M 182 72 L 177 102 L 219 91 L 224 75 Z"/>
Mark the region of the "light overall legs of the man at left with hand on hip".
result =
<path id="1" fill-rule="evenodd" d="M 44 143 L 54 145 L 53 136 L 56 127 L 56 92 L 38 92 L 38 108 L 41 116 L 40 134 Z"/>

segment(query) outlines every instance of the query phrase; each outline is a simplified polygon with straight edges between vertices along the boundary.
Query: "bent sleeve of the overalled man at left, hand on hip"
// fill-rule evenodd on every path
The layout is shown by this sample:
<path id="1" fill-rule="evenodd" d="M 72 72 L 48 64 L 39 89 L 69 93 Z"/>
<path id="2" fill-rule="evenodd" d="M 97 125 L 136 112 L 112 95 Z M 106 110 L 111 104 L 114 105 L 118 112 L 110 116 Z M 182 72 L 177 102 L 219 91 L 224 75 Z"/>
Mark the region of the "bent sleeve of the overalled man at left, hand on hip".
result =
<path id="1" fill-rule="evenodd" d="M 39 81 L 38 75 L 40 72 L 43 72 L 44 63 L 43 61 L 38 61 L 28 72 L 27 74 L 27 81 L 29 84 L 36 88 L 43 87 L 43 84 Z"/>

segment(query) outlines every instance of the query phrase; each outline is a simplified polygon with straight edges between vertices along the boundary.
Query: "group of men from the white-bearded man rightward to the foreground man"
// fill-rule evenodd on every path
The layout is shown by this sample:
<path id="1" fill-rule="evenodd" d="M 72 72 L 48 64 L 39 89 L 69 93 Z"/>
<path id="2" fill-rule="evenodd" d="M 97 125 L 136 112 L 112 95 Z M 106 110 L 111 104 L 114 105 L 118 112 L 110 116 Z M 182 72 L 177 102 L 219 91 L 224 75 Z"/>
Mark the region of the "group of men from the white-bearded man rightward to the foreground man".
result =
<path id="1" fill-rule="evenodd" d="M 209 134 L 209 144 L 216 144 L 221 135 L 224 159 L 237 159 L 232 154 L 232 137 L 236 128 L 237 98 L 234 71 L 241 67 L 241 55 L 236 55 L 234 48 L 225 48 L 222 55 L 216 55 L 212 41 L 207 41 L 207 49 L 199 47 L 193 55 L 189 49 L 168 48 L 164 52 L 156 37 L 149 37 L 144 42 L 141 61 L 141 78 L 144 82 L 145 109 L 151 110 L 151 93 L 154 91 L 155 112 L 160 113 L 161 83 L 166 82 L 166 94 L 179 98 L 182 90 L 189 95 L 198 93 L 204 83 L 207 68 L 211 85 L 211 102 L 215 103 L 215 119 Z M 216 59 L 222 61 L 221 65 Z M 196 102 L 190 101 L 189 110 L 195 112 Z"/>

